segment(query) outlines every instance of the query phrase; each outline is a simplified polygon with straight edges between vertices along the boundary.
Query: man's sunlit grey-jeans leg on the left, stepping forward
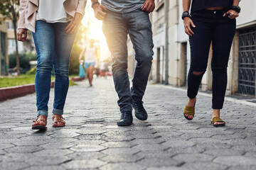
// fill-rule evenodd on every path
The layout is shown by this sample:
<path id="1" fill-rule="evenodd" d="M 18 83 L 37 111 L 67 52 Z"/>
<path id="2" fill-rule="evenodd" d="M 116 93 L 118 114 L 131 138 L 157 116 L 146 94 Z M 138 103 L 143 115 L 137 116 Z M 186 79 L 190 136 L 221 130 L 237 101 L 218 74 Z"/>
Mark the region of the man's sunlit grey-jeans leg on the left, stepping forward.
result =
<path id="1" fill-rule="evenodd" d="M 114 87 L 119 96 L 120 111 L 132 112 L 131 92 L 127 74 L 127 24 L 122 13 L 107 12 L 103 32 L 112 55 Z"/>

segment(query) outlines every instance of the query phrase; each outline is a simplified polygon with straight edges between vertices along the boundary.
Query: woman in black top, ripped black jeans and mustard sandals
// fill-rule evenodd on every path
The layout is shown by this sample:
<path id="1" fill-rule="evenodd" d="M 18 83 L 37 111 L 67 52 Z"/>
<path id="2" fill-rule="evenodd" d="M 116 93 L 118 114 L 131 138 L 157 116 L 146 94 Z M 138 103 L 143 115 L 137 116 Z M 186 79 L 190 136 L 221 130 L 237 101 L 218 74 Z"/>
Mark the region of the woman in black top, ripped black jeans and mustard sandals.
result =
<path id="1" fill-rule="evenodd" d="M 191 64 L 188 71 L 188 101 L 183 110 L 187 120 L 195 114 L 196 95 L 203 74 L 206 72 L 210 43 L 213 48 L 211 70 L 213 72 L 212 125 L 225 126 L 220 118 L 227 87 L 227 67 L 230 48 L 235 35 L 236 21 L 240 13 L 240 0 L 183 0 L 182 19 L 185 33 L 189 35 Z M 188 10 L 191 4 L 191 15 Z"/>

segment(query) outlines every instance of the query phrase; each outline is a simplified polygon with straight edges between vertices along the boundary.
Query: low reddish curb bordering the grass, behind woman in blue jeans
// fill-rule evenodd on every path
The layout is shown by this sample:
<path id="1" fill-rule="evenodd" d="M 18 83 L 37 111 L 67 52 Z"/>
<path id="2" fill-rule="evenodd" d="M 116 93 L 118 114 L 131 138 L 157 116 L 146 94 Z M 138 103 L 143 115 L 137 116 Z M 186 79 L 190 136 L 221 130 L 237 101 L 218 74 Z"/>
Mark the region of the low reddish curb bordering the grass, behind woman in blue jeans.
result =
<path id="1" fill-rule="evenodd" d="M 51 81 L 50 87 L 54 86 L 54 81 Z M 35 93 L 35 84 L 26 84 L 22 86 L 4 87 L 0 89 L 0 101 L 6 101 L 11 98 L 25 96 Z"/>

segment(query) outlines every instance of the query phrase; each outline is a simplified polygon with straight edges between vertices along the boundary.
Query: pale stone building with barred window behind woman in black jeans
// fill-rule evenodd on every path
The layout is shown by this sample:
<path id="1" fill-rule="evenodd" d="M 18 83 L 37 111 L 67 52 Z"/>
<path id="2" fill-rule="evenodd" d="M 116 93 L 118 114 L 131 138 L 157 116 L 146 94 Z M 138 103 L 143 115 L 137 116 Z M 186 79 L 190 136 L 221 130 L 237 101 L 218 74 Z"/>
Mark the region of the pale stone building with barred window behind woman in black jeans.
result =
<path id="1" fill-rule="evenodd" d="M 154 40 L 154 59 L 151 81 L 174 86 L 186 86 L 190 63 L 188 35 L 184 32 L 182 0 L 156 0 L 151 13 Z M 237 18 L 237 31 L 228 63 L 228 86 L 226 94 L 242 94 L 255 97 L 256 83 L 256 6 L 255 0 L 240 2 L 242 11 Z M 134 62 L 132 45 L 128 40 L 129 62 Z M 209 53 L 208 69 L 201 82 L 201 90 L 212 89 L 212 74 Z M 133 73 L 134 64 L 129 63 Z"/>

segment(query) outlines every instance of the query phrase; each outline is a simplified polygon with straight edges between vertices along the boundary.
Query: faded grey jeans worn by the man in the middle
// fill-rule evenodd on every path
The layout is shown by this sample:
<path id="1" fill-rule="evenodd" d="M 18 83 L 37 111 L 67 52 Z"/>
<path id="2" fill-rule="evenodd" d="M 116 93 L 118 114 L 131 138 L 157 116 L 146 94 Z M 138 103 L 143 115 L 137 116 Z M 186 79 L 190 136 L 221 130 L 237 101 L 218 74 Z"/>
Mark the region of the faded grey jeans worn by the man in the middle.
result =
<path id="1" fill-rule="evenodd" d="M 138 9 L 129 13 L 107 10 L 103 21 L 103 32 L 112 55 L 114 87 L 119 96 L 121 112 L 132 111 L 132 100 L 142 101 L 153 59 L 153 40 L 149 13 Z M 127 34 L 132 40 L 137 66 L 129 86 L 127 74 Z"/>

